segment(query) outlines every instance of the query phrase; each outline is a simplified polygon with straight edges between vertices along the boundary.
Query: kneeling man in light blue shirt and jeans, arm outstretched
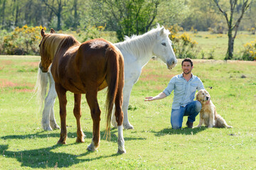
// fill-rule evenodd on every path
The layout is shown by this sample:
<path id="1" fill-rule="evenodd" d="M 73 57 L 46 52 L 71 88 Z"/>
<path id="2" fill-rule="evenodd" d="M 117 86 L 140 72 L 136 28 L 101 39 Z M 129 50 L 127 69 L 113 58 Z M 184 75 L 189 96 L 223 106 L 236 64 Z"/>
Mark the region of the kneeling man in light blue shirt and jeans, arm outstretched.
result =
<path id="1" fill-rule="evenodd" d="M 154 97 L 146 97 L 145 101 L 154 101 L 165 98 L 174 91 L 174 102 L 171 107 L 171 127 L 178 129 L 182 127 L 183 116 L 188 116 L 186 125 L 193 128 L 196 115 L 201 111 L 202 105 L 199 101 L 193 101 L 196 90 L 204 89 L 201 79 L 192 74 L 193 62 L 186 58 L 181 62 L 182 74 L 171 79 L 166 89 Z"/>

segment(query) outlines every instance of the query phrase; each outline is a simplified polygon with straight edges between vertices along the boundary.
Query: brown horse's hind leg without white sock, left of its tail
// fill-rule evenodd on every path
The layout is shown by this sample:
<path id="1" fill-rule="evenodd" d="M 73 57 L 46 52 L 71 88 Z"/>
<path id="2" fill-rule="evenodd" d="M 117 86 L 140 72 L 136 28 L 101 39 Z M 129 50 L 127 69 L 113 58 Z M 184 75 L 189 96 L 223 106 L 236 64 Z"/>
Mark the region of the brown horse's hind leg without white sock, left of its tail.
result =
<path id="1" fill-rule="evenodd" d="M 87 150 L 95 151 L 100 145 L 100 107 L 97 102 L 97 87 L 93 87 L 86 92 L 86 100 L 90 107 L 90 112 L 93 121 L 92 143 L 87 147 Z"/>

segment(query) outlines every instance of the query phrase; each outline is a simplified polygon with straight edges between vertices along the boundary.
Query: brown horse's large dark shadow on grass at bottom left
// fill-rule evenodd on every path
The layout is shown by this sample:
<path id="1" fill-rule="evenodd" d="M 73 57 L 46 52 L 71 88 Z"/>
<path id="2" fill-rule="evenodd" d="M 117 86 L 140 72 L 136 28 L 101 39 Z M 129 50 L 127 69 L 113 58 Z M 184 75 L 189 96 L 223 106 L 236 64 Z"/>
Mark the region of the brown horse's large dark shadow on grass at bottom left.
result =
<path id="1" fill-rule="evenodd" d="M 76 144 L 72 144 L 76 145 Z M 61 146 L 68 145 L 53 145 L 52 147 L 45 147 L 41 149 L 31 149 L 25 151 L 7 151 L 9 145 L 0 145 L 1 156 L 6 158 L 14 158 L 18 162 L 21 162 L 21 166 L 27 166 L 31 168 L 53 168 L 53 167 L 69 167 L 73 164 L 80 164 L 82 162 L 90 162 L 96 159 L 102 159 L 107 157 L 115 157 L 119 154 L 111 154 L 108 156 L 94 157 L 90 159 L 80 159 L 80 157 L 87 156 L 92 153 L 90 151 L 84 154 L 75 155 L 61 152 L 52 152 L 52 149 L 56 149 Z"/>

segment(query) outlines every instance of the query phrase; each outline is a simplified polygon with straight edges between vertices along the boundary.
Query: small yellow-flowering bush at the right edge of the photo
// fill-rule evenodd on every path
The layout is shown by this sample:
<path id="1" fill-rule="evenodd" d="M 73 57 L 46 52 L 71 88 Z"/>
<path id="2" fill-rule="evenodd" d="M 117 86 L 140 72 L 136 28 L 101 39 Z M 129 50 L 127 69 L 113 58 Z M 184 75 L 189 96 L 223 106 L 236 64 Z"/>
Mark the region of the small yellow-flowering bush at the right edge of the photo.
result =
<path id="1" fill-rule="evenodd" d="M 242 60 L 253 61 L 256 60 L 256 40 L 247 42 L 245 45 L 245 50 L 242 51 Z"/>

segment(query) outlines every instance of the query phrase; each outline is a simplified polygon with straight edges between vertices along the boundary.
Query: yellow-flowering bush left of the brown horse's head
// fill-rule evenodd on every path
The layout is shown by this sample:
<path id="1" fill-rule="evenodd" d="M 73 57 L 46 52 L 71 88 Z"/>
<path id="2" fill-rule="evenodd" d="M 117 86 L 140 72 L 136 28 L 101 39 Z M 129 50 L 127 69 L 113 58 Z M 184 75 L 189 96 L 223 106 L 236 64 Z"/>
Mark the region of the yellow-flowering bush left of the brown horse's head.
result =
<path id="1" fill-rule="evenodd" d="M 0 43 L 3 48 L 1 54 L 5 55 L 38 55 L 38 45 L 41 41 L 42 26 L 15 28 L 14 31 L 4 36 Z M 44 28 L 46 30 L 46 28 Z"/>

